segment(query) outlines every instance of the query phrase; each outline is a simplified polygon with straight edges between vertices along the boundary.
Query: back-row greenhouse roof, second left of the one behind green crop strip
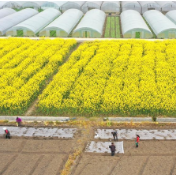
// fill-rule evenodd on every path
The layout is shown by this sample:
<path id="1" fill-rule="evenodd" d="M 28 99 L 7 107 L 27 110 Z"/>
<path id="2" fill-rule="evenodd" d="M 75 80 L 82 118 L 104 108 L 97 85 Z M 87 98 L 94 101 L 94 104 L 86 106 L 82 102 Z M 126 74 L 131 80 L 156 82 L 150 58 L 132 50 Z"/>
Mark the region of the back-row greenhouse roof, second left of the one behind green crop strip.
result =
<path id="1" fill-rule="evenodd" d="M 63 12 L 69 10 L 69 9 L 78 9 L 81 10 L 82 6 L 85 4 L 86 1 L 67 1 L 61 9 Z"/>

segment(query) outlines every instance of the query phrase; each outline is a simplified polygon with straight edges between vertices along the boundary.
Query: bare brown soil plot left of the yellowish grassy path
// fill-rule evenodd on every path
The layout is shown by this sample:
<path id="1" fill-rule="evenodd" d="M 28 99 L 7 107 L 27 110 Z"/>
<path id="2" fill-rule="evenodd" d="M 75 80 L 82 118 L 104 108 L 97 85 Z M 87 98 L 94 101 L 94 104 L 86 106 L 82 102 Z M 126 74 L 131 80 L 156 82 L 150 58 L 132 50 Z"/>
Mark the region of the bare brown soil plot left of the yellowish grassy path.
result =
<path id="1" fill-rule="evenodd" d="M 0 175 L 59 175 L 72 140 L 0 139 Z"/>

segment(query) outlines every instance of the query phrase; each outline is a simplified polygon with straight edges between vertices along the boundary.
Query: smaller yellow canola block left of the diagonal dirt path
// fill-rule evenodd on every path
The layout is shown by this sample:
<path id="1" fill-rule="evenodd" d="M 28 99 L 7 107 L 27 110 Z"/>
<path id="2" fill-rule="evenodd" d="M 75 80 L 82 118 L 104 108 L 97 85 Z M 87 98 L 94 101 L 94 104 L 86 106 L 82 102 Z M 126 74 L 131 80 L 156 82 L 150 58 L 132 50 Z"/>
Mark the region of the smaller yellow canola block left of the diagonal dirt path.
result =
<path id="1" fill-rule="evenodd" d="M 75 40 L 0 39 L 0 113 L 23 114 Z"/>

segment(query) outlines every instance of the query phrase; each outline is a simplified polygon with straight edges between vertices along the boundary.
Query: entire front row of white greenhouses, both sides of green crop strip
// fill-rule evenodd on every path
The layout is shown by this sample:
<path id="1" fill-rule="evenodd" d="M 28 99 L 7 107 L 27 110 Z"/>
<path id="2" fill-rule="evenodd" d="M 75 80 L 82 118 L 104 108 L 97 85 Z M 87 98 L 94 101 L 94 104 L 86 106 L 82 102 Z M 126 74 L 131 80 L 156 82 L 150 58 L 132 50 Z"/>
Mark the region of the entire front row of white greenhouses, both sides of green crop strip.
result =
<path id="1" fill-rule="evenodd" d="M 3 14 L 7 16 L 4 17 Z M 150 10 L 145 12 L 143 17 L 157 38 L 176 38 L 176 10 L 168 12 L 166 16 L 160 11 Z M 121 14 L 124 38 L 135 38 L 137 32 L 140 32 L 140 38 L 153 37 L 143 17 L 134 10 Z M 61 14 L 53 8 L 41 13 L 30 8 L 19 12 L 7 8 L 0 10 L 0 35 L 16 36 L 17 31 L 22 30 L 24 36 L 35 36 L 39 33 L 40 36 L 49 37 L 50 31 L 56 31 L 56 36 L 67 37 L 74 30 L 73 37 L 99 38 L 103 34 L 105 20 L 106 14 L 97 9 L 84 15 L 77 9 L 70 9 Z"/>

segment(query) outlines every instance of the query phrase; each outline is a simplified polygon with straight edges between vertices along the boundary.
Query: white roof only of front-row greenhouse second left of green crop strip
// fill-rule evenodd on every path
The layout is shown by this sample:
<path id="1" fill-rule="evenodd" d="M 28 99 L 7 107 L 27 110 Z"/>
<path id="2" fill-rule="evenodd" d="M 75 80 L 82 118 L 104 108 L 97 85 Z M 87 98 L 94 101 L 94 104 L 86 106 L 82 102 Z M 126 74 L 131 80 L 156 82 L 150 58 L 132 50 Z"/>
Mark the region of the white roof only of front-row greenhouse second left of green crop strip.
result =
<path id="1" fill-rule="evenodd" d="M 59 18 L 53 21 L 42 31 L 63 30 L 69 35 L 83 15 L 83 12 L 77 9 L 67 10 L 66 12 L 64 12 L 64 14 L 62 14 Z"/>

